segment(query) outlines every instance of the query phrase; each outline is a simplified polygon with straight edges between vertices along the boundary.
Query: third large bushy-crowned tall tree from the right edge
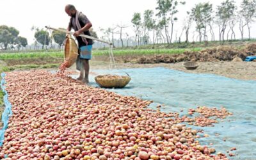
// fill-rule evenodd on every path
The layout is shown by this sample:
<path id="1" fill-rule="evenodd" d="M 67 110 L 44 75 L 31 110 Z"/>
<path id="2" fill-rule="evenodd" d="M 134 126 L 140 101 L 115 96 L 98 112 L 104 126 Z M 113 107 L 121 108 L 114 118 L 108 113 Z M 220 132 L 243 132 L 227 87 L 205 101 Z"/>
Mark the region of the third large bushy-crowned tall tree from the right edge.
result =
<path id="1" fill-rule="evenodd" d="M 202 35 L 204 35 L 204 41 L 207 40 L 206 28 L 212 20 L 211 13 L 212 4 L 209 3 L 198 3 L 192 8 L 191 17 L 196 22 L 196 30 L 199 33 L 200 42 L 202 41 Z"/>

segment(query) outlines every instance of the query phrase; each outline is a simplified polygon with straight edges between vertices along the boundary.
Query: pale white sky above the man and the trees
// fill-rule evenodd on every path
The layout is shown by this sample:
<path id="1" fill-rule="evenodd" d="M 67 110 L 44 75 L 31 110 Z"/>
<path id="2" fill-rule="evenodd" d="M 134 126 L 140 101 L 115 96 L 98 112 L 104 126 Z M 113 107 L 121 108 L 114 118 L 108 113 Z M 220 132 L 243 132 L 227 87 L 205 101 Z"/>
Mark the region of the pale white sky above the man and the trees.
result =
<path id="1" fill-rule="evenodd" d="M 181 22 L 196 3 L 208 2 L 207 0 L 185 0 L 185 6 L 179 7 L 177 17 L 179 21 L 175 24 L 175 31 L 182 28 Z M 224 0 L 210 1 L 214 5 L 219 5 Z M 241 0 L 235 0 L 237 6 Z M 68 17 L 65 13 L 66 4 L 74 4 L 77 10 L 83 12 L 93 24 L 93 29 L 100 36 L 99 28 L 111 28 L 113 25 L 125 25 L 129 28 L 124 29 L 133 36 L 131 19 L 135 12 L 140 12 L 143 17 L 145 10 L 154 10 L 156 14 L 157 0 L 0 0 L 0 25 L 12 26 L 20 31 L 20 36 L 28 39 L 28 44 L 33 43 L 34 31 L 32 26 L 44 28 L 67 28 Z M 255 33 L 255 31 L 254 31 Z M 216 37 L 218 37 L 216 33 Z M 237 36 L 239 35 L 237 31 Z M 253 36 L 252 28 L 252 36 Z M 245 33 L 245 36 L 246 33 Z M 254 36 L 255 37 L 255 36 Z M 118 36 L 116 36 L 118 38 Z"/>

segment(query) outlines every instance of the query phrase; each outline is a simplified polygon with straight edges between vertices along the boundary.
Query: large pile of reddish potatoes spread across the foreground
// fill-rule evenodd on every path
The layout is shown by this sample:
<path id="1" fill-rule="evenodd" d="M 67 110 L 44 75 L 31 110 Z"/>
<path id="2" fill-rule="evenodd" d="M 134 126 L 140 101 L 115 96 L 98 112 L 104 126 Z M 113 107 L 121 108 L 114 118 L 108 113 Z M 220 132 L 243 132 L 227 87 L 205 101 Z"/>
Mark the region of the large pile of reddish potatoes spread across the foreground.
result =
<path id="1" fill-rule="evenodd" d="M 61 72 L 62 73 L 62 72 Z M 44 70 L 6 76 L 13 115 L 0 159 L 227 159 L 177 113 Z"/>

